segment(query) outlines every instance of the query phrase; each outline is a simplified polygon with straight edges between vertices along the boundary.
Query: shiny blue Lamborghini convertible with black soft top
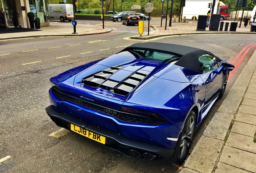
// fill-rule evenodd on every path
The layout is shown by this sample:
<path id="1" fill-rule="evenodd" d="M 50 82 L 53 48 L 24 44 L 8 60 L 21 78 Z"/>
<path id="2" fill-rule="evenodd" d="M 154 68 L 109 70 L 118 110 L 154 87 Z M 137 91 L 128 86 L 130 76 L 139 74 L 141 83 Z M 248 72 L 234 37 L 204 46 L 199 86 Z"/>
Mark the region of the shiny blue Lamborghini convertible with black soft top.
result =
<path id="1" fill-rule="evenodd" d="M 233 68 L 206 50 L 136 43 L 52 77 L 46 112 L 124 155 L 180 164 Z"/>

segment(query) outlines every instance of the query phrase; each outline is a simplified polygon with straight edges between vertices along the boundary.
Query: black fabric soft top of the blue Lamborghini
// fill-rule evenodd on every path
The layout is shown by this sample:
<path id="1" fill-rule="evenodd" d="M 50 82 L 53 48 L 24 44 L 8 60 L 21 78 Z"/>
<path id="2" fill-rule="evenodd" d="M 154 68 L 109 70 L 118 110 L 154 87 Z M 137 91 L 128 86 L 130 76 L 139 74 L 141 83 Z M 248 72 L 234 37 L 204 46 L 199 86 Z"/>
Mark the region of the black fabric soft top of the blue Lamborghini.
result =
<path id="1" fill-rule="evenodd" d="M 176 55 L 180 57 L 180 59 L 175 62 L 175 65 L 189 68 L 198 72 L 200 71 L 198 57 L 203 54 L 211 54 L 210 52 L 200 48 L 157 42 L 135 43 L 122 51 L 133 49 L 151 50 Z"/>

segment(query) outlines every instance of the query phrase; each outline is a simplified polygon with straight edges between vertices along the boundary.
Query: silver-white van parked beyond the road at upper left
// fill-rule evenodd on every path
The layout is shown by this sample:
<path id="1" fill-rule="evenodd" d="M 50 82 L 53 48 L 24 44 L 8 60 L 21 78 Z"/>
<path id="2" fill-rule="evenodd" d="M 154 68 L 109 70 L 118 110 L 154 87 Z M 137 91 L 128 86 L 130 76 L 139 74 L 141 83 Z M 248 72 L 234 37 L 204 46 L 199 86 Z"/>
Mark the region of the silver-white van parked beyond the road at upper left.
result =
<path id="1" fill-rule="evenodd" d="M 48 9 L 50 20 L 60 20 L 62 22 L 74 20 L 72 4 L 49 4 Z"/>

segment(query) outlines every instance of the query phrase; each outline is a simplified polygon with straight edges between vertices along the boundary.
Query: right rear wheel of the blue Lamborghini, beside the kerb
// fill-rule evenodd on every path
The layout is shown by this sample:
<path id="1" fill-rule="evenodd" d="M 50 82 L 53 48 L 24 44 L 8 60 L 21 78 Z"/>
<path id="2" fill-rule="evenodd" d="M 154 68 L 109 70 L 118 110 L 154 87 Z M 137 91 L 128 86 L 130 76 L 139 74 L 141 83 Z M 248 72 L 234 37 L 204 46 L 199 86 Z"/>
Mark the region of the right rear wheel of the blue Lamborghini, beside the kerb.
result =
<path id="1" fill-rule="evenodd" d="M 188 151 L 191 147 L 195 126 L 196 113 L 194 111 L 191 111 L 185 121 L 185 125 L 174 148 L 174 153 L 171 158 L 172 163 L 180 165 L 185 161 L 188 155 Z"/>

